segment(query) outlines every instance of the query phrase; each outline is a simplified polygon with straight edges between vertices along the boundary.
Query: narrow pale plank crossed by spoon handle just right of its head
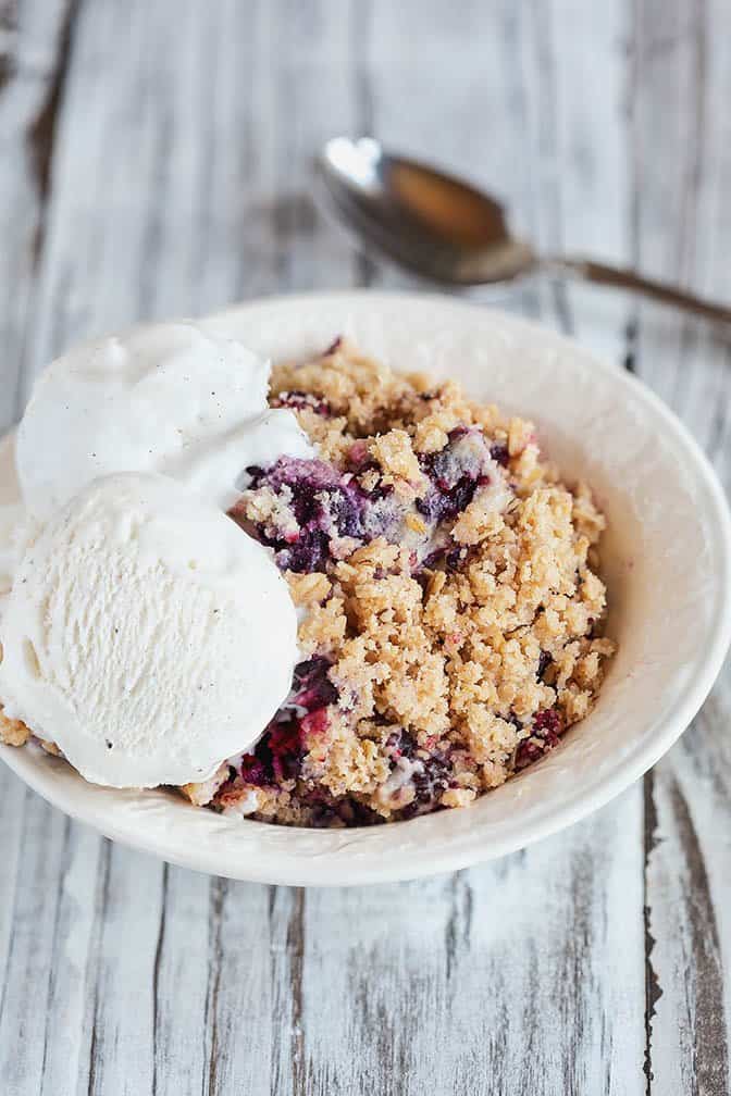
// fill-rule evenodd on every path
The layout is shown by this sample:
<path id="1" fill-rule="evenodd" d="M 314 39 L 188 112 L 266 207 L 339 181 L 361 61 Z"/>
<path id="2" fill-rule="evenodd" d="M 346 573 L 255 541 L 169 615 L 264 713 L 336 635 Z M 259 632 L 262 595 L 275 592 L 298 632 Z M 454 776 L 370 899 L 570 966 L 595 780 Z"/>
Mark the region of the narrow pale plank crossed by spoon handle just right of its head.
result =
<path id="1" fill-rule="evenodd" d="M 562 0 L 535 3 L 532 11 L 524 64 L 537 75 L 529 84 L 528 112 L 528 162 L 535 167 L 526 172 L 536 242 L 548 254 L 626 263 L 631 196 L 626 170 L 627 5 Z M 544 304 L 549 316 L 551 308 L 558 309 L 564 330 L 608 361 L 623 363 L 631 299 L 574 282 L 553 287 Z"/>

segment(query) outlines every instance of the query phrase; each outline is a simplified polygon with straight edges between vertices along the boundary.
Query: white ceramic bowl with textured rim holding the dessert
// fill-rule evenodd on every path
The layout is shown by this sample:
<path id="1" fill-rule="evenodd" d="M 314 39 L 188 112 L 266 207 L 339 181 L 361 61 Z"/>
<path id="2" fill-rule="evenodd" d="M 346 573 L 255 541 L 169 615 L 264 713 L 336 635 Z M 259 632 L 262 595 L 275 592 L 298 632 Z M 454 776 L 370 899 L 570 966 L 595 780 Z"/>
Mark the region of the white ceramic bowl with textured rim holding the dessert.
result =
<path id="1" fill-rule="evenodd" d="M 456 377 L 534 419 L 567 477 L 593 486 L 619 643 L 595 710 L 562 744 L 467 810 L 363 830 L 225 819 L 163 791 L 84 783 L 38 749 L 0 749 L 42 796 L 108 837 L 235 879 L 339 886 L 410 879 L 502 856 L 606 803 L 693 719 L 731 635 L 731 522 L 703 453 L 661 401 L 581 346 L 510 316 L 434 296 L 368 292 L 247 304 L 206 321 L 272 358 L 340 333 L 403 370 Z M 0 491 L 14 477 L 5 446 Z"/>

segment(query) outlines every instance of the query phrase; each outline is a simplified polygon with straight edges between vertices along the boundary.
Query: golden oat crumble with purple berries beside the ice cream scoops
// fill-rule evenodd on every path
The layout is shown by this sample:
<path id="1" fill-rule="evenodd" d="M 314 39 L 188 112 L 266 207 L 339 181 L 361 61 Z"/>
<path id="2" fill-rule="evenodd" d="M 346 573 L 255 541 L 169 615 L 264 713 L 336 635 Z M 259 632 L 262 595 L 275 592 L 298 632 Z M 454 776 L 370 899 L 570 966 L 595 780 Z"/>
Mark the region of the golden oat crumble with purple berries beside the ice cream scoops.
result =
<path id="1" fill-rule="evenodd" d="M 273 373 L 317 459 L 248 469 L 302 662 L 251 754 L 183 790 L 225 814 L 347 826 L 464 807 L 590 710 L 610 640 L 584 484 L 533 426 L 343 340 Z"/>

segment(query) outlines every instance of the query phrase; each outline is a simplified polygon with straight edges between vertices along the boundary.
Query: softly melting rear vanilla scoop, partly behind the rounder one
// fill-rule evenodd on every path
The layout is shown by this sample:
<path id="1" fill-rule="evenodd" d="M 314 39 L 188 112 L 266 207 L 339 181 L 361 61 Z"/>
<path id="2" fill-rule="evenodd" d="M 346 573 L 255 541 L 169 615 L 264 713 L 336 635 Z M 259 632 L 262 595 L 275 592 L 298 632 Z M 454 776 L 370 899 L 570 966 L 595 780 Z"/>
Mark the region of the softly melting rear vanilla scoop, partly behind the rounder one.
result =
<path id="1" fill-rule="evenodd" d="M 270 366 L 194 323 L 136 328 L 80 346 L 38 378 L 18 431 L 23 500 L 46 521 L 100 476 L 157 471 L 227 510 L 245 468 L 312 456 Z"/>

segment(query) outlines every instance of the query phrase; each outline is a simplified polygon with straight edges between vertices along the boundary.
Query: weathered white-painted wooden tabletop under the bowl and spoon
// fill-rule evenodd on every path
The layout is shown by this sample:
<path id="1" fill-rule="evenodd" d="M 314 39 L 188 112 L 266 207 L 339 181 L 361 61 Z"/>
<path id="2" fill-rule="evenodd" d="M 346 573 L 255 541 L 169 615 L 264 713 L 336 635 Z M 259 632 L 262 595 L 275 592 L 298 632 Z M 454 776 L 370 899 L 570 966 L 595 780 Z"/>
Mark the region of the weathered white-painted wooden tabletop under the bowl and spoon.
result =
<path id="1" fill-rule="evenodd" d="M 546 248 L 731 298 L 726 0 L 0 12 L 2 427 L 93 333 L 406 285 L 312 206 L 312 153 L 341 132 L 468 172 Z M 596 289 L 504 304 L 637 372 L 729 483 L 721 333 Z M 727 1093 L 730 708 L 727 673 L 661 764 L 572 830 L 374 889 L 168 867 L 3 768 L 0 1093 Z"/>

